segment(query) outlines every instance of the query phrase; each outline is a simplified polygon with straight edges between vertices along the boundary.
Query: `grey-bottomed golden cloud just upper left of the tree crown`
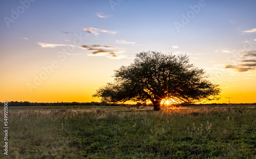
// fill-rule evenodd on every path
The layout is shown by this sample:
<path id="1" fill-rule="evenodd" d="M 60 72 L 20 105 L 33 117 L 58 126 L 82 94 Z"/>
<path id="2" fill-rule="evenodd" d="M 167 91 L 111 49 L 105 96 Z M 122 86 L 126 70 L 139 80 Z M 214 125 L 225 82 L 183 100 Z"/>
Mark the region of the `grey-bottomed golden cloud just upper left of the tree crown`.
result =
<path id="1" fill-rule="evenodd" d="M 91 51 L 92 53 L 89 56 L 106 56 L 108 58 L 125 58 L 125 56 L 121 55 L 124 51 L 116 51 L 113 49 L 118 49 L 109 46 L 100 46 L 99 44 L 94 44 L 92 46 L 83 45 L 82 48 Z"/>

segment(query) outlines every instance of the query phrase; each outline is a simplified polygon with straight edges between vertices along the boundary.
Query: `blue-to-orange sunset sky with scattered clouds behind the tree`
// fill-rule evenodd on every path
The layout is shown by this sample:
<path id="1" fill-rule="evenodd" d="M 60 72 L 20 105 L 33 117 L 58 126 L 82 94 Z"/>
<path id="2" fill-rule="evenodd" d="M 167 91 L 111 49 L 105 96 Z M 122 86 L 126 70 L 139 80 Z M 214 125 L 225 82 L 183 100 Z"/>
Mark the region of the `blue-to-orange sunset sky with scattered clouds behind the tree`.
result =
<path id="1" fill-rule="evenodd" d="M 92 102 L 137 53 L 187 54 L 222 92 L 256 102 L 256 1 L 0 1 L 0 102 Z"/>

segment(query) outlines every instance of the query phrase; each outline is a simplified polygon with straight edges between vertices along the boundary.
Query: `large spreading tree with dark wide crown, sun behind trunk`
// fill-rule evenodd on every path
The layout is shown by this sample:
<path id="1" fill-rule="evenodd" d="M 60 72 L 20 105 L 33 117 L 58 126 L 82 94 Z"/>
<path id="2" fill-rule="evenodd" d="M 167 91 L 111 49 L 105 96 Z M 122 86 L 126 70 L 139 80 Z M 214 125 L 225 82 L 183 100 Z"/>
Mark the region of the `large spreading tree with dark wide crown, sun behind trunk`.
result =
<path id="1" fill-rule="evenodd" d="M 141 52 L 134 63 L 114 72 L 114 82 L 100 87 L 93 97 L 110 103 L 152 102 L 154 110 L 166 99 L 190 104 L 220 98 L 219 85 L 206 80 L 206 72 L 189 64 L 187 55 Z"/>

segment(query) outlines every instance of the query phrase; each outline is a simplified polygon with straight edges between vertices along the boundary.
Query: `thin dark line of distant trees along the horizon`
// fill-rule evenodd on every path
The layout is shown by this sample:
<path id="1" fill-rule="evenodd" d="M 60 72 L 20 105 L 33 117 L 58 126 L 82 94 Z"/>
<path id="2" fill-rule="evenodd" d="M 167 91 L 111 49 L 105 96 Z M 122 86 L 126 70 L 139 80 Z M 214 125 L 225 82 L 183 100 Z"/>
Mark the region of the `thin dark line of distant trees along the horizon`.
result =
<path id="1" fill-rule="evenodd" d="M 38 103 L 38 102 L 8 102 L 8 106 L 69 106 L 69 105 L 94 105 L 94 106 L 123 106 L 122 104 L 113 104 L 106 102 L 57 102 L 57 103 Z M 210 103 L 210 104 L 189 104 L 197 106 L 210 106 L 210 105 L 256 105 L 256 103 Z M 184 105 L 184 106 L 189 106 Z M 0 106 L 4 106 L 4 102 L 0 102 Z M 148 104 L 147 106 L 153 106 L 153 104 Z"/>

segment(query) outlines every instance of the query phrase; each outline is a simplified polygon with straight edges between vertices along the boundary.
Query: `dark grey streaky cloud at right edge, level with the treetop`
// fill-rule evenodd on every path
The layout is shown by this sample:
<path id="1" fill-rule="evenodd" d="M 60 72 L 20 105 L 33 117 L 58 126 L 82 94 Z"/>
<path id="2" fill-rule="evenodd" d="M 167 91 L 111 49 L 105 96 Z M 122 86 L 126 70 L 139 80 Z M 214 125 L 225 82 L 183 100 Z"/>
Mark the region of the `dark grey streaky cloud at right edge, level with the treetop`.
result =
<path id="1" fill-rule="evenodd" d="M 244 55 L 242 60 L 237 64 L 225 65 L 224 69 L 230 69 L 237 72 L 247 72 L 256 70 L 256 51 L 242 51 Z"/>

